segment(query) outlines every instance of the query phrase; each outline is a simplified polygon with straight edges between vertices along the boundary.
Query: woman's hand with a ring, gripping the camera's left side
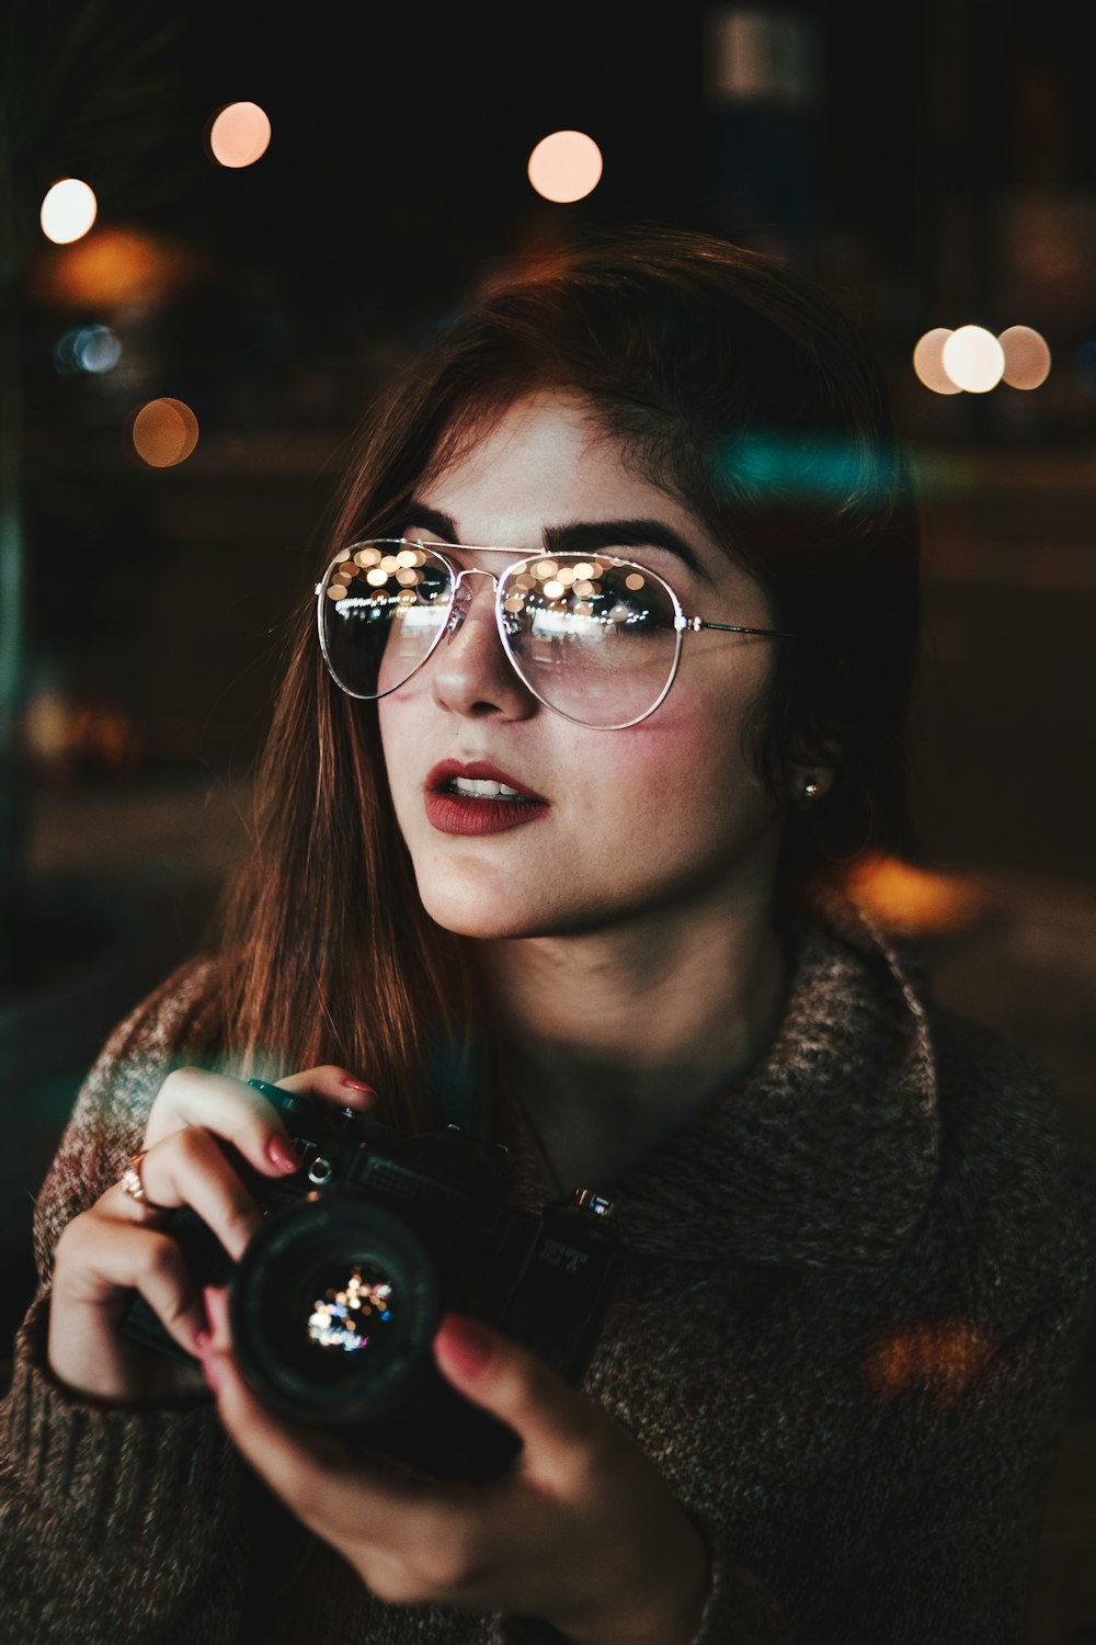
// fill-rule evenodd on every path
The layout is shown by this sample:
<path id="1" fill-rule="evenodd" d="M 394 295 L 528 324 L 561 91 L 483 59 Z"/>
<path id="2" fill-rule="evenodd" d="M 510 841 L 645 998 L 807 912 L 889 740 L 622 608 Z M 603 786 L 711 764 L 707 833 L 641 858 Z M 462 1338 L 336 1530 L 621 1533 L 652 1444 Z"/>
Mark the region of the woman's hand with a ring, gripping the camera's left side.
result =
<path id="1" fill-rule="evenodd" d="M 278 1084 L 340 1107 L 368 1109 L 375 1101 L 343 1068 L 311 1068 Z M 192 1206 L 235 1260 L 263 1222 L 223 1143 L 263 1176 L 299 1168 L 281 1115 L 253 1086 L 200 1068 L 176 1069 L 159 1087 L 145 1130 L 141 1184 L 151 1206 L 138 1204 L 115 1183 L 62 1229 L 48 1362 L 74 1393 L 141 1403 L 204 1388 L 197 1365 L 131 1342 L 120 1324 L 138 1290 L 174 1341 L 197 1354 L 205 1309 L 164 1226 L 168 1211 Z"/>

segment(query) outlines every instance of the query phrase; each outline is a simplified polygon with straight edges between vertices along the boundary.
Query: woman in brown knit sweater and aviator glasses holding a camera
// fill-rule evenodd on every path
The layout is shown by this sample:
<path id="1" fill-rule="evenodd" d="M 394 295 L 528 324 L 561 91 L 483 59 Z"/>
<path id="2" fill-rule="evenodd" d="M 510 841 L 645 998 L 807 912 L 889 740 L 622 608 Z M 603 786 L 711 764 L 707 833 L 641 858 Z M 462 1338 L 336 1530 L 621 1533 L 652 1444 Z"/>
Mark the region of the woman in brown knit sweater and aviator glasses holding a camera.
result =
<path id="1" fill-rule="evenodd" d="M 711 237 L 518 266 L 391 385 L 223 938 L 117 1030 L 38 1202 L 12 1638 L 1024 1637 L 1096 1168 L 841 892 L 909 847 L 915 540 L 846 322 Z M 240 1156 L 296 1170 L 251 1076 L 504 1140 L 529 1211 L 611 1198 L 580 1387 L 434 1339 L 504 1477 L 242 1379 L 168 1217 L 238 1257 Z M 122 1332 L 133 1288 L 187 1364 Z"/>

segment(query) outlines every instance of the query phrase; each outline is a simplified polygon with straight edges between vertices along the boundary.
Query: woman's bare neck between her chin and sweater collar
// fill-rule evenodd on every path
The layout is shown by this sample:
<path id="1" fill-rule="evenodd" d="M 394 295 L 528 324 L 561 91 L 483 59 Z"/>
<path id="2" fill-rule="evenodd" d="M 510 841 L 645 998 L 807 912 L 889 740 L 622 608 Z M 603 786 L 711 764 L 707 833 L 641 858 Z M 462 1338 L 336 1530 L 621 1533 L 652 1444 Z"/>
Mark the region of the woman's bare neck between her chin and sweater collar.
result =
<path id="1" fill-rule="evenodd" d="M 766 1053 L 787 990 L 767 892 L 483 944 L 501 1074 L 562 1173 L 626 1170 Z"/>

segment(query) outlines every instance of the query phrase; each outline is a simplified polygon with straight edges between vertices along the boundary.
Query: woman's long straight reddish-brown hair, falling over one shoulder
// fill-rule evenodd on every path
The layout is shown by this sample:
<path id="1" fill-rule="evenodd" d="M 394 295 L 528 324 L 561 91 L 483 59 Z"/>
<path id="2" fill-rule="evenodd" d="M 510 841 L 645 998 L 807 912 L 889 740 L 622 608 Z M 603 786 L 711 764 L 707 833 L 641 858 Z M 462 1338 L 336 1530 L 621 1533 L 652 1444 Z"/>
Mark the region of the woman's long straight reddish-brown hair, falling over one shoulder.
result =
<path id="1" fill-rule="evenodd" d="M 771 258 L 638 225 L 495 275 L 371 405 L 315 572 L 353 540 L 398 533 L 431 469 L 485 415 L 544 387 L 587 395 L 800 637 L 779 648 L 746 732 L 774 793 L 789 758 L 836 750 L 827 798 L 789 811 L 782 882 L 905 849 L 914 505 L 876 365 L 827 298 Z M 376 711 L 329 678 L 307 602 L 220 974 L 233 1066 L 342 1063 L 408 1127 L 435 1119 L 437 1046 L 475 1033 L 470 946 L 422 910 Z"/>

